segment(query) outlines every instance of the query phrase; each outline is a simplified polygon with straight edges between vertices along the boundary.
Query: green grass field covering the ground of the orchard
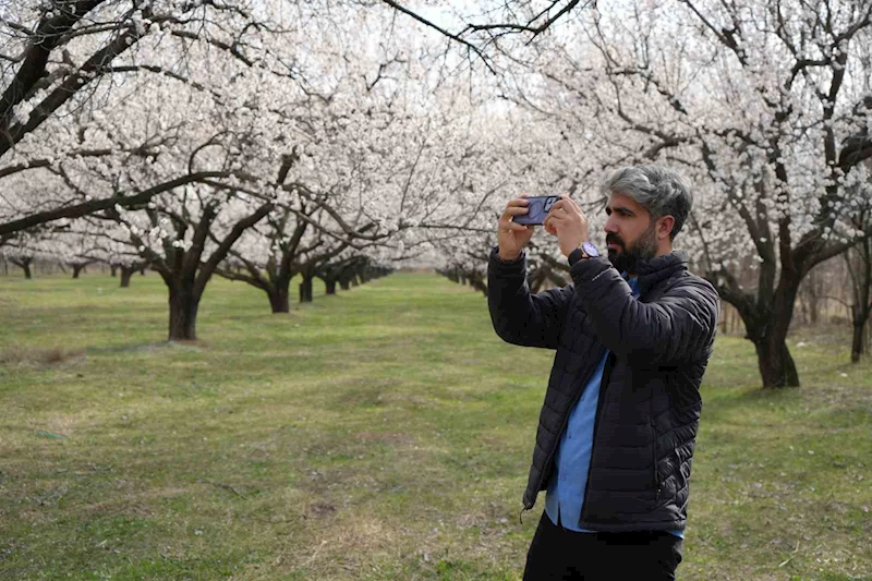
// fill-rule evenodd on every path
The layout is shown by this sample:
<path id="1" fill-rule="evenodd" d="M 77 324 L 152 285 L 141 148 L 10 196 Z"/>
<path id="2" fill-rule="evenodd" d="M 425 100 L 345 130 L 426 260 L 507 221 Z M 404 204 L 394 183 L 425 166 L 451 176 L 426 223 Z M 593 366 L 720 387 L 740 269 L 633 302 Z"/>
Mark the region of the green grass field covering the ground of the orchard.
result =
<path id="1" fill-rule="evenodd" d="M 0 579 L 520 579 L 552 353 L 480 293 L 397 274 L 271 315 L 216 280 L 169 344 L 159 278 L 117 283 L 0 277 Z M 764 392 L 718 339 L 679 579 L 872 579 L 872 364 L 845 346 L 791 338 L 803 387 Z"/>

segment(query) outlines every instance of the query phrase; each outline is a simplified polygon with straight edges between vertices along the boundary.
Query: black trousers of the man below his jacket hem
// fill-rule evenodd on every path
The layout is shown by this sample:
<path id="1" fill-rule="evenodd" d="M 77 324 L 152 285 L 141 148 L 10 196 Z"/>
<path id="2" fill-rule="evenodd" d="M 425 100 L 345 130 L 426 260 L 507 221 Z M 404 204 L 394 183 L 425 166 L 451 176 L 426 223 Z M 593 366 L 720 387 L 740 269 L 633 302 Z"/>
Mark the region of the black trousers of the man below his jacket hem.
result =
<path id="1" fill-rule="evenodd" d="M 666 531 L 579 533 L 542 513 L 524 581 L 673 581 L 681 538 Z"/>

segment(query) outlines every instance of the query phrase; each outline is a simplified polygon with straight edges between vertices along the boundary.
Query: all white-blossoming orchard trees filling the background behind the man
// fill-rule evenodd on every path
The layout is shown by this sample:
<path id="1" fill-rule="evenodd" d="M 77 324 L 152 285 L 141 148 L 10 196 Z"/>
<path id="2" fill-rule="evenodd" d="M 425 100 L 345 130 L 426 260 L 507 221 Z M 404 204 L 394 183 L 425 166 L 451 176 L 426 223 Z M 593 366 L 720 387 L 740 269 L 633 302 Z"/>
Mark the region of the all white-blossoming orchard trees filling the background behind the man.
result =
<path id="1" fill-rule="evenodd" d="M 279 304 L 314 256 L 483 281 L 508 197 L 596 215 L 605 172 L 658 162 L 693 184 L 679 246 L 763 384 L 792 386 L 802 280 L 872 233 L 869 0 L 0 5 L 2 247 L 71 233 L 147 261 L 171 338 L 222 270 Z M 543 280 L 554 247 L 533 240 Z"/>

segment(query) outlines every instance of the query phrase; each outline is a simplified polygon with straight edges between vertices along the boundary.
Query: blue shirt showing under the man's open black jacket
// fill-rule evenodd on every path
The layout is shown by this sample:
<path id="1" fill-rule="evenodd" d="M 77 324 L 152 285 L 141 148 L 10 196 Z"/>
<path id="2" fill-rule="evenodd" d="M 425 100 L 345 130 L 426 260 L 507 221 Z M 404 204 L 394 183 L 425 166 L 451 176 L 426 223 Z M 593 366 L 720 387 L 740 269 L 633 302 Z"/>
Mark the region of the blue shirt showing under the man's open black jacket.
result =
<path id="1" fill-rule="evenodd" d="M 637 279 L 631 278 L 628 282 L 633 291 L 633 296 L 638 296 Z M 588 382 L 581 398 L 569 414 L 569 422 L 560 436 L 560 444 L 554 461 L 554 472 L 548 481 L 548 491 L 545 495 L 545 513 L 548 515 L 552 522 L 554 524 L 559 522 L 565 529 L 581 533 L 596 532 L 580 529 L 578 521 L 581 515 L 581 505 L 584 501 L 588 471 L 591 467 L 596 403 L 600 399 L 600 384 L 603 382 L 608 353 L 609 351 L 606 350 L 603 354 L 603 359 Z M 683 531 L 669 532 L 680 538 L 685 537 Z"/>

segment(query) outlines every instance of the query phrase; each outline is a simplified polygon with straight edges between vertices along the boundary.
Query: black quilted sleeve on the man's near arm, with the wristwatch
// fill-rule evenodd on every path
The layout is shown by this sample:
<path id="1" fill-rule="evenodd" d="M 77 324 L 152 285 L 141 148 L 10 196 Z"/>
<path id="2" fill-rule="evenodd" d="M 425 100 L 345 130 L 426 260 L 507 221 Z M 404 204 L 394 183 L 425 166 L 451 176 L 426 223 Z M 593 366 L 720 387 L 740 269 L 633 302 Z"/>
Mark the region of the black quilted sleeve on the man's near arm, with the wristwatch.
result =
<path id="1" fill-rule="evenodd" d="M 571 274 L 597 338 L 618 355 L 674 364 L 708 354 L 719 298 L 705 280 L 681 277 L 661 299 L 643 303 L 607 258 L 579 261 Z"/>

